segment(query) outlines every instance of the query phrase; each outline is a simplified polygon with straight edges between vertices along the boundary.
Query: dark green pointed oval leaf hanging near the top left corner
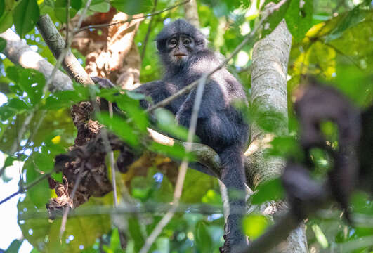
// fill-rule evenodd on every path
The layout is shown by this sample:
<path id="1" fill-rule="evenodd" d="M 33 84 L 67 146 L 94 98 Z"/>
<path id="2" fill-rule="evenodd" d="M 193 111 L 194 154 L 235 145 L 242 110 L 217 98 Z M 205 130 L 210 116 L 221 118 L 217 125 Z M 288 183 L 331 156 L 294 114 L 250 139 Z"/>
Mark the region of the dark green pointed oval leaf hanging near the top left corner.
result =
<path id="1" fill-rule="evenodd" d="M 13 11 L 15 31 L 23 37 L 39 21 L 39 6 L 36 0 L 22 0 Z"/>

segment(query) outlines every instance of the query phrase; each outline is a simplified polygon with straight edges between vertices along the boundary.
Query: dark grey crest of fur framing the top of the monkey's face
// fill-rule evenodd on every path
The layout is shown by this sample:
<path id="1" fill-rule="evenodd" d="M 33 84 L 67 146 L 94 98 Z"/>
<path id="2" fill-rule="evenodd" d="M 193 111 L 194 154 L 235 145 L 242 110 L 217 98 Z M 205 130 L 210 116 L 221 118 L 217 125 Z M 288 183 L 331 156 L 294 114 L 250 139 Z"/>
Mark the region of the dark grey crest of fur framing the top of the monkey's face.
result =
<path id="1" fill-rule="evenodd" d="M 206 48 L 207 39 L 196 27 L 191 25 L 189 22 L 178 19 L 174 22 L 166 25 L 161 32 L 159 32 L 156 41 L 157 48 L 159 51 L 165 51 L 166 40 L 175 34 L 185 34 L 192 37 L 195 40 L 197 50 Z"/>

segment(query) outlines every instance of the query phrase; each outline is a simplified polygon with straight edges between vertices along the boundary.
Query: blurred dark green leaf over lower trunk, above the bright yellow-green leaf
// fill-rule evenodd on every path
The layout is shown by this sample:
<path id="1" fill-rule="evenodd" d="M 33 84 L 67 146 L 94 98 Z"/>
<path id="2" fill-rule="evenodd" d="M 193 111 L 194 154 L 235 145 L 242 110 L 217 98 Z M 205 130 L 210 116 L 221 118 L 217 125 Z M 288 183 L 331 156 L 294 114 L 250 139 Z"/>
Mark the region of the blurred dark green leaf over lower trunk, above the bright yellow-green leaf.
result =
<path id="1" fill-rule="evenodd" d="M 284 197 L 284 188 L 280 179 L 272 179 L 259 186 L 257 193 L 252 198 L 252 204 L 261 204 L 268 200 L 280 200 Z"/>

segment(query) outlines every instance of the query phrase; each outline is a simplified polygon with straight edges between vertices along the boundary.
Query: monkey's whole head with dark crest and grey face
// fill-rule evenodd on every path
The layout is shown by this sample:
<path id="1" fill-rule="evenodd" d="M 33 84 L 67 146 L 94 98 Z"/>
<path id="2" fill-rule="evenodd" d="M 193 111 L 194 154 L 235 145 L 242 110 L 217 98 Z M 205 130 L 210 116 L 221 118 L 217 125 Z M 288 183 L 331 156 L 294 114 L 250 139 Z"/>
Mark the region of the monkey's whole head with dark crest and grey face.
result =
<path id="1" fill-rule="evenodd" d="M 166 25 L 156 41 L 159 55 L 168 67 L 186 65 L 192 56 L 207 47 L 204 34 L 181 19 Z"/>

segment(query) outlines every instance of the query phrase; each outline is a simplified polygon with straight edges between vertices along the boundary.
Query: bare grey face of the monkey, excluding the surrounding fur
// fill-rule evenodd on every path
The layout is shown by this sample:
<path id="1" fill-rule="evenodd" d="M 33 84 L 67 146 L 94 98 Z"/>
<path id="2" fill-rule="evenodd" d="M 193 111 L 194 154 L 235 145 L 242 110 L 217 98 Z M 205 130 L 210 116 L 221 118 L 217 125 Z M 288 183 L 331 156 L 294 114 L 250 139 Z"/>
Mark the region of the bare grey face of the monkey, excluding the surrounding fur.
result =
<path id="1" fill-rule="evenodd" d="M 188 62 L 195 51 L 195 41 L 185 34 L 175 34 L 166 41 L 169 52 L 169 60 L 175 65 L 183 65 Z"/>

